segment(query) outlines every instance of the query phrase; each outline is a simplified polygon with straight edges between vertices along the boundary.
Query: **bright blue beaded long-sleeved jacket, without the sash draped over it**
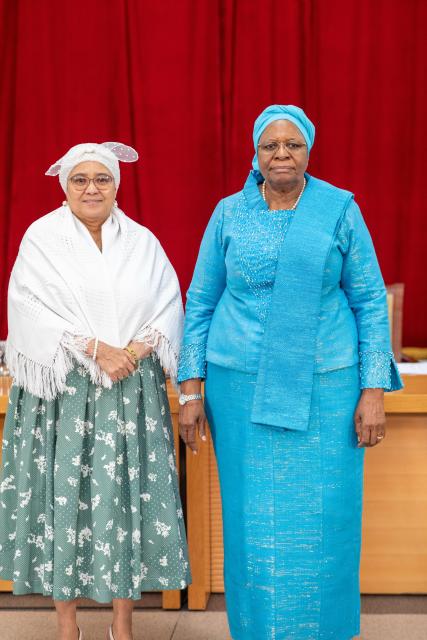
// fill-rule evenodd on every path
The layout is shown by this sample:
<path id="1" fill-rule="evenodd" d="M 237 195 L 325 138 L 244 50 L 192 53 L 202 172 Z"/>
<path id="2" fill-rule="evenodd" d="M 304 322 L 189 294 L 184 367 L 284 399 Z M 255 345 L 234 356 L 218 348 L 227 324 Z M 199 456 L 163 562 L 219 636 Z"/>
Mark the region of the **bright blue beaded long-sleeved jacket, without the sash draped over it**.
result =
<path id="1" fill-rule="evenodd" d="M 269 211 L 259 180 L 259 174 L 251 172 L 242 191 L 219 202 L 207 226 L 187 292 L 179 381 L 204 378 L 207 361 L 258 372 L 277 263 L 294 215 Z M 352 199 L 324 266 L 314 371 L 358 362 L 362 388 L 401 388 L 390 347 L 384 282 Z"/>

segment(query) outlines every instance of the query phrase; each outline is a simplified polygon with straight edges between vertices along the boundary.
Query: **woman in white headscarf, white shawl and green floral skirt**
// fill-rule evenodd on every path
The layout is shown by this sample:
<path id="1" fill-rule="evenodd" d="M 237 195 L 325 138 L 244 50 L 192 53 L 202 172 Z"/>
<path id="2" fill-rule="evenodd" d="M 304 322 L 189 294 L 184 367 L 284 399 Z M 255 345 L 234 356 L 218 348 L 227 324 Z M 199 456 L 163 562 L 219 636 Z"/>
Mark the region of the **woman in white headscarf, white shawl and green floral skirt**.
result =
<path id="1" fill-rule="evenodd" d="M 76 598 L 113 602 L 131 640 L 141 591 L 189 581 L 166 369 L 176 378 L 176 274 L 115 200 L 120 143 L 72 147 L 63 206 L 27 230 L 9 287 L 14 378 L 0 477 L 0 575 L 54 598 L 60 640 L 81 640 Z"/>

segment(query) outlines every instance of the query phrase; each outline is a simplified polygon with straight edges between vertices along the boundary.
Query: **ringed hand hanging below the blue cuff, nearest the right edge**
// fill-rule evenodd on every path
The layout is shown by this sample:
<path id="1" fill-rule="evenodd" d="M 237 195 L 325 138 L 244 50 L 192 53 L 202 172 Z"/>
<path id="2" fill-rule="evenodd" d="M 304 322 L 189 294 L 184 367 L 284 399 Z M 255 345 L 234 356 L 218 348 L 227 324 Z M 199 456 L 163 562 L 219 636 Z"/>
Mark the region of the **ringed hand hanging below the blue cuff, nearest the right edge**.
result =
<path id="1" fill-rule="evenodd" d="M 358 447 L 375 447 L 385 437 L 384 390 L 363 389 L 354 413 Z"/>

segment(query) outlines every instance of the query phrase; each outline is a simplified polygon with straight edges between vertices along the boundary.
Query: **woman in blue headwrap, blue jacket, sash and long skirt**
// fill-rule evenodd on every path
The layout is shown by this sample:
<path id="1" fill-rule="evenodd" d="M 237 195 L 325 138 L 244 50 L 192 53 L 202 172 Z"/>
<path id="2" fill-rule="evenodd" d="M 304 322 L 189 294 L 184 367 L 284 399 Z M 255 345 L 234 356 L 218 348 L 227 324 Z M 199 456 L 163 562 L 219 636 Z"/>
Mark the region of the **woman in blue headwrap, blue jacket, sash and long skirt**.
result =
<path id="1" fill-rule="evenodd" d="M 187 294 L 181 434 L 205 438 L 205 378 L 234 640 L 359 633 L 364 447 L 402 386 L 369 232 L 351 193 L 306 172 L 313 141 L 298 107 L 263 111 Z"/>

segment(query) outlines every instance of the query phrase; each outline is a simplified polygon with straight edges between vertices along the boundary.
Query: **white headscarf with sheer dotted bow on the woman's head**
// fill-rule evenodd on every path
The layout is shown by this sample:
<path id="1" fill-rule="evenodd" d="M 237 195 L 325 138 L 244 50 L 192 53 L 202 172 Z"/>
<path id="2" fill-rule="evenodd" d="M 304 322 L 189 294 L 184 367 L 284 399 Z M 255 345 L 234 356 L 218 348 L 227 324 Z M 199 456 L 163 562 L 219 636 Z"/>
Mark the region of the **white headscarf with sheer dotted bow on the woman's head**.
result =
<path id="1" fill-rule="evenodd" d="M 89 160 L 101 162 L 107 169 L 111 171 L 114 178 L 116 189 L 120 184 L 120 168 L 121 162 L 136 162 L 138 153 L 132 147 L 128 147 L 121 142 L 85 142 L 76 144 L 71 147 L 59 160 L 49 167 L 46 171 L 47 176 L 57 176 L 59 174 L 59 182 L 61 187 L 67 193 L 67 180 L 74 167 L 81 162 Z"/>

